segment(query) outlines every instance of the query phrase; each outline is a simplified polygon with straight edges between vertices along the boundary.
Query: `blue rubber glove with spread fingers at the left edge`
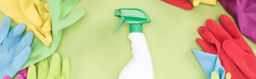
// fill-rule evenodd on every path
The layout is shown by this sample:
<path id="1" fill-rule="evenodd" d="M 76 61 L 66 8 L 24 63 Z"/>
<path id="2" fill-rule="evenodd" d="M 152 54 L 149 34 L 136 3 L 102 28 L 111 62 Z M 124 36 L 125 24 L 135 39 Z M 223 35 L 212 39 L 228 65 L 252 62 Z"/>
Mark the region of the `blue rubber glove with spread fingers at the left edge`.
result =
<path id="1" fill-rule="evenodd" d="M 9 31 L 10 23 L 11 18 L 5 17 L 0 29 L 0 79 L 6 75 L 12 78 L 25 64 L 29 59 L 34 37 L 33 32 L 29 31 L 20 39 L 26 25 L 20 23 Z"/>

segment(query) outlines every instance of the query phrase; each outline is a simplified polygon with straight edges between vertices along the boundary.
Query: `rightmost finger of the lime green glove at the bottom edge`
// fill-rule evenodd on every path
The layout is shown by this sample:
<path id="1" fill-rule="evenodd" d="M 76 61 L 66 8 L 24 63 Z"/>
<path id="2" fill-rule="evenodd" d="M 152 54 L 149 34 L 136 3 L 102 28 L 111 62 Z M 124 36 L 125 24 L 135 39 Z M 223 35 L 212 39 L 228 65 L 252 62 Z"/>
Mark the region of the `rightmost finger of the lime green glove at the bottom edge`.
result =
<path id="1" fill-rule="evenodd" d="M 61 69 L 61 79 L 69 79 L 70 75 L 70 63 L 68 58 L 64 58 L 62 69 Z"/>

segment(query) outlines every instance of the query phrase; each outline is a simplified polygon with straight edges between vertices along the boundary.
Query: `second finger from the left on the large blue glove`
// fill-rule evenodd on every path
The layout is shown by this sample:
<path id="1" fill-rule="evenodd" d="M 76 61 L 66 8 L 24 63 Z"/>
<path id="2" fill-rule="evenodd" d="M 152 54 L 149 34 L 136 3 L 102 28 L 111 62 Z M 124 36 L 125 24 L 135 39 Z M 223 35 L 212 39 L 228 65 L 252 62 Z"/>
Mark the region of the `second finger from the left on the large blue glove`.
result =
<path id="1" fill-rule="evenodd" d="M 24 23 L 17 25 L 9 32 L 2 45 L 8 46 L 7 48 L 12 48 L 20 40 L 25 29 L 26 25 Z"/>

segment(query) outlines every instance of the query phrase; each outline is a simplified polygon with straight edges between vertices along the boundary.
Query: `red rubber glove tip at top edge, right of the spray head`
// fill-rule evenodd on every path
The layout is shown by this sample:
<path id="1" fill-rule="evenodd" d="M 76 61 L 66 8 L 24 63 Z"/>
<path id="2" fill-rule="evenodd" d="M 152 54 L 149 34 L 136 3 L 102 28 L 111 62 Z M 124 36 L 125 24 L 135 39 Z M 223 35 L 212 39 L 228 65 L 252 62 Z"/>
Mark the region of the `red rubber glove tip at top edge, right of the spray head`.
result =
<path id="1" fill-rule="evenodd" d="M 194 6 L 192 5 L 192 3 L 189 2 L 189 0 L 162 0 L 162 1 L 180 8 L 187 9 L 187 10 L 191 10 L 194 8 Z"/>

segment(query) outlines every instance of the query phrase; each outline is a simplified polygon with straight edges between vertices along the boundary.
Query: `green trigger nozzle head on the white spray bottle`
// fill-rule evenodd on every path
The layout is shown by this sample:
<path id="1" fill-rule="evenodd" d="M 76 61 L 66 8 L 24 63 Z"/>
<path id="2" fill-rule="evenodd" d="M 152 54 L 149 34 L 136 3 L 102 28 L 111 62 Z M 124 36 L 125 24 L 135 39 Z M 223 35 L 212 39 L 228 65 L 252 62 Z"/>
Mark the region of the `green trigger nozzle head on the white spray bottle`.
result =
<path id="1" fill-rule="evenodd" d="M 115 10 L 115 16 L 121 17 L 119 24 L 116 28 L 116 31 L 121 27 L 122 23 L 125 21 L 130 24 L 130 33 L 131 32 L 143 32 L 143 23 L 150 23 L 148 15 L 136 8 L 121 8 Z M 115 32 L 116 32 L 115 31 Z"/>

